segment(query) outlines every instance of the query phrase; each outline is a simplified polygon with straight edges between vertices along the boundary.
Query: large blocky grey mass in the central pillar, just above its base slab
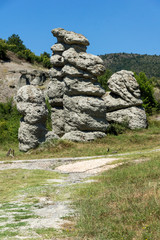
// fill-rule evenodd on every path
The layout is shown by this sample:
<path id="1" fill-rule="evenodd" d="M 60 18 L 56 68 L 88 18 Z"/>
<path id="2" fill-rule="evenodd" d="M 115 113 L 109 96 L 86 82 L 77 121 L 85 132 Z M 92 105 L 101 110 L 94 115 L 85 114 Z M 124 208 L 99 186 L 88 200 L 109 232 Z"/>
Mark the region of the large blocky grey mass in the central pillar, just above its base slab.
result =
<path id="1" fill-rule="evenodd" d="M 64 96 L 65 132 L 102 131 L 107 129 L 105 104 L 100 98 Z"/>

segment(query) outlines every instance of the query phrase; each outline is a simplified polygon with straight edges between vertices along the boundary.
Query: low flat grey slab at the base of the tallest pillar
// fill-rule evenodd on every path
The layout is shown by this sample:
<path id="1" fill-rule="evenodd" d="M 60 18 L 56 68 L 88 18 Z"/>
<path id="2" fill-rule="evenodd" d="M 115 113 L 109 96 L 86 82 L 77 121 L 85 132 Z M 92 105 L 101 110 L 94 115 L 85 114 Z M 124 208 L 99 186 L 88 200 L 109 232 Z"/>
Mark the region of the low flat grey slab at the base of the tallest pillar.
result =
<path id="1" fill-rule="evenodd" d="M 82 132 L 82 131 L 71 131 L 65 133 L 62 139 L 74 141 L 74 142 L 86 142 L 93 141 L 97 138 L 103 138 L 106 134 L 102 132 Z"/>

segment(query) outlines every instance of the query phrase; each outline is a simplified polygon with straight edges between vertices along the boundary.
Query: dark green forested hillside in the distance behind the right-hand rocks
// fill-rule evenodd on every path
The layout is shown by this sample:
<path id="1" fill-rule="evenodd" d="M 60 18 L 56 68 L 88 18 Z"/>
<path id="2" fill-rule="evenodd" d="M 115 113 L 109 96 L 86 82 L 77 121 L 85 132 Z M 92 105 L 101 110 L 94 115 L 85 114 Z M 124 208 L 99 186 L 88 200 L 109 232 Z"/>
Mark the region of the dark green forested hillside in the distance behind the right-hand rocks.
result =
<path id="1" fill-rule="evenodd" d="M 147 77 L 160 79 L 160 55 L 140 55 L 128 53 L 112 53 L 100 55 L 107 69 L 112 73 L 120 70 L 131 70 L 137 74 L 145 72 Z"/>

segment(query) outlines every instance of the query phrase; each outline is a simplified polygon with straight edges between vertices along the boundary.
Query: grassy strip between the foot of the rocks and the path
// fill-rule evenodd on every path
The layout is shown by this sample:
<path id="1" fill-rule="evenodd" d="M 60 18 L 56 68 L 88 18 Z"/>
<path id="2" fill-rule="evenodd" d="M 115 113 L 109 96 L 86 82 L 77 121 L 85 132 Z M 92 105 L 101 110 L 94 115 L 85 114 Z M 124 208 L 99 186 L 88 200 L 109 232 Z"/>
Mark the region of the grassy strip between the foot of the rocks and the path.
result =
<path id="1" fill-rule="evenodd" d="M 40 159 L 57 157 L 81 157 L 108 155 L 117 151 L 118 153 L 131 152 L 159 147 L 160 121 L 149 120 L 148 129 L 127 130 L 118 136 L 108 134 L 103 139 L 93 142 L 73 143 L 65 140 L 55 140 L 45 143 L 35 150 L 27 153 L 18 150 L 18 142 L 4 143 L 0 145 L 0 160 L 12 160 L 6 157 L 10 148 L 15 150 L 14 159 Z M 109 152 L 108 152 L 109 148 Z"/>

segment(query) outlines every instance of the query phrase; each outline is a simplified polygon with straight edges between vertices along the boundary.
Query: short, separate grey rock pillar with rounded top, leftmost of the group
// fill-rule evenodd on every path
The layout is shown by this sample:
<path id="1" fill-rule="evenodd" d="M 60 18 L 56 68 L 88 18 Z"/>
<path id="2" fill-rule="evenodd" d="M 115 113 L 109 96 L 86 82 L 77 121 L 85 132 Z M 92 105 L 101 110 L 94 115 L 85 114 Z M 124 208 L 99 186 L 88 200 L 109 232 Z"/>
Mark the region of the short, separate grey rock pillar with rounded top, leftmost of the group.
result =
<path id="1" fill-rule="evenodd" d="M 16 96 L 17 109 L 23 115 L 18 131 L 20 151 L 28 151 L 44 142 L 48 110 L 42 92 L 32 85 L 21 87 Z"/>

